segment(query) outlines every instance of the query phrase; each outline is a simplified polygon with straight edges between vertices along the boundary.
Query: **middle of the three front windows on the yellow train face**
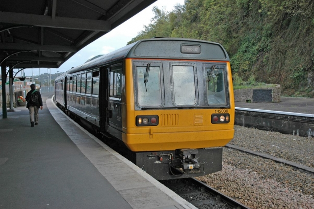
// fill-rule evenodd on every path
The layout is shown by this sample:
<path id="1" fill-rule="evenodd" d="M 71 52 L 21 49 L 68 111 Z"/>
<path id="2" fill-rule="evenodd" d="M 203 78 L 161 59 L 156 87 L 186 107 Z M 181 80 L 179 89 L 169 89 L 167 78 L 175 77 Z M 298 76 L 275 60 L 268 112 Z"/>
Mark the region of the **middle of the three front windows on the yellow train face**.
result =
<path id="1" fill-rule="evenodd" d="M 172 78 L 174 102 L 179 106 L 193 106 L 196 104 L 195 68 L 185 63 L 172 64 Z"/>

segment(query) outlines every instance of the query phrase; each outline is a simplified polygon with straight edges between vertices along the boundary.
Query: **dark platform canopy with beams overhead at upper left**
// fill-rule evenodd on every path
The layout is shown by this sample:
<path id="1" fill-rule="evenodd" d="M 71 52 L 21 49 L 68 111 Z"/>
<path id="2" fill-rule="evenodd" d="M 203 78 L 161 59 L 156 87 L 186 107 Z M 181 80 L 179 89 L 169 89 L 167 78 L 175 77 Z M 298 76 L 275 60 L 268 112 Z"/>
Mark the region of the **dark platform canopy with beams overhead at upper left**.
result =
<path id="1" fill-rule="evenodd" d="M 0 62 L 14 68 L 58 68 L 155 1 L 1 0 Z"/>

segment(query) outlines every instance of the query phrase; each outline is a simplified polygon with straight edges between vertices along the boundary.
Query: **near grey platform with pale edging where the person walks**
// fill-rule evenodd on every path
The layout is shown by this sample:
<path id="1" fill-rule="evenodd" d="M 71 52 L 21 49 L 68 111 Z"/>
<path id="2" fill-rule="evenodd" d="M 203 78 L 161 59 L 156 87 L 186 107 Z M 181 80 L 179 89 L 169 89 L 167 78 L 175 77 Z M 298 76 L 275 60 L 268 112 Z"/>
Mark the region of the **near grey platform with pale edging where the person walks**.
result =
<path id="1" fill-rule="evenodd" d="M 0 112 L 0 209 L 196 209 L 81 128 L 42 93 L 39 124 L 26 107 Z"/>

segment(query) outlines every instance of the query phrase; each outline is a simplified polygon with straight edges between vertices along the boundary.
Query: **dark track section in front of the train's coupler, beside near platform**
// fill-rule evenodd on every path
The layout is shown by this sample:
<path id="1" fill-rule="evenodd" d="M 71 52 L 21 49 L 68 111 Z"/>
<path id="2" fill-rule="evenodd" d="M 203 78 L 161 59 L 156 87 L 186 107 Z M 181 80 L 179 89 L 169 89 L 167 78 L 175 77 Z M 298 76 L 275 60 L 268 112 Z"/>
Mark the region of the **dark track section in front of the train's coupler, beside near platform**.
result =
<path id="1" fill-rule="evenodd" d="M 160 183 L 199 209 L 250 209 L 194 178 L 161 180 Z"/>

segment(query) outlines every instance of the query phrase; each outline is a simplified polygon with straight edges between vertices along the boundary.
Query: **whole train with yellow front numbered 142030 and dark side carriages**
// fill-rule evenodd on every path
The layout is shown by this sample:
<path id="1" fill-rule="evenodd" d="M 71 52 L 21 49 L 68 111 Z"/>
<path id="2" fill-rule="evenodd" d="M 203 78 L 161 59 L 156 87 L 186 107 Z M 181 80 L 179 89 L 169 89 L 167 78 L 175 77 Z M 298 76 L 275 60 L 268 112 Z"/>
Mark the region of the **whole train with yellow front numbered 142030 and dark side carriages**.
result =
<path id="1" fill-rule="evenodd" d="M 234 136 L 230 60 L 214 42 L 137 41 L 59 76 L 55 100 L 123 142 L 156 179 L 220 171 L 222 147 Z"/>

